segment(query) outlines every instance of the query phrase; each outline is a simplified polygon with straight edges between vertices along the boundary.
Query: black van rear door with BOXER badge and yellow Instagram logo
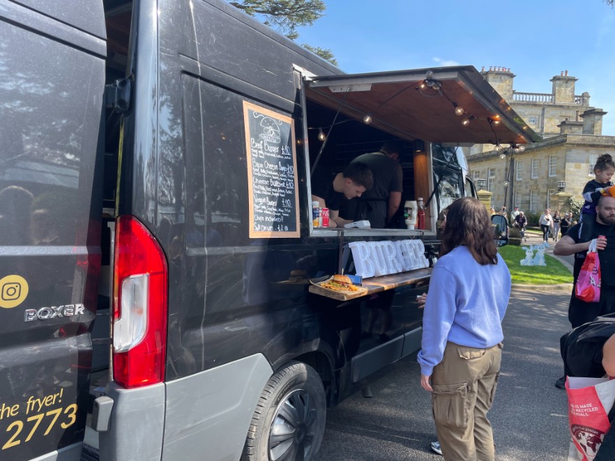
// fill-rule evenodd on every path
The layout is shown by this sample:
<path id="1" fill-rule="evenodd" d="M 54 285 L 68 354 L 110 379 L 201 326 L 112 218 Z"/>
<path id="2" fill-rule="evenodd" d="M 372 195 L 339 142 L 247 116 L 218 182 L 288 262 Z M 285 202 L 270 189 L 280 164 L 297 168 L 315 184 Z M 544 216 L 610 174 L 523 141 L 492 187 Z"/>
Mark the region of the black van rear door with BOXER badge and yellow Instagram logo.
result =
<path id="1" fill-rule="evenodd" d="M 100 266 L 102 1 L 0 0 L 0 460 L 78 460 Z"/>

